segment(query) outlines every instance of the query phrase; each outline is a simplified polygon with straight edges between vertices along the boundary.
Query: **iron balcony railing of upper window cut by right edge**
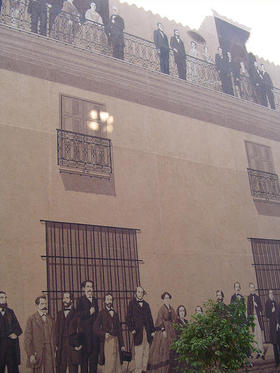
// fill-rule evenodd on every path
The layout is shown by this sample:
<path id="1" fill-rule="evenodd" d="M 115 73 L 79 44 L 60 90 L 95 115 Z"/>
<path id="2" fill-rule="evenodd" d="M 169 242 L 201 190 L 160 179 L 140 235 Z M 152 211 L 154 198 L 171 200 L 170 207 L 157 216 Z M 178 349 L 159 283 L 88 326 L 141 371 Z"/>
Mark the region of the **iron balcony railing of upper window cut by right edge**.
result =
<path id="1" fill-rule="evenodd" d="M 251 194 L 266 200 L 280 200 L 278 175 L 248 168 Z"/>

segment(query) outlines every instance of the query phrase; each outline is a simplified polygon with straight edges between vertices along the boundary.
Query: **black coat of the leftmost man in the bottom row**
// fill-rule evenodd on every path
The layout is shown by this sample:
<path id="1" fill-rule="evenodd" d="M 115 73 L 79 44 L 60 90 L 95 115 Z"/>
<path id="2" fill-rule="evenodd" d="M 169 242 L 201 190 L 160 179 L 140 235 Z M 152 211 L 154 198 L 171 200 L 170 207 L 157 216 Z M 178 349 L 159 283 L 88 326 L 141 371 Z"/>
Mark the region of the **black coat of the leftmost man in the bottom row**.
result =
<path id="1" fill-rule="evenodd" d="M 21 327 L 13 310 L 5 309 L 5 315 L 0 313 L 0 361 L 4 361 L 5 354 L 8 350 L 12 351 L 13 359 L 17 365 L 20 365 L 20 348 L 17 339 L 10 339 L 10 334 L 20 336 Z"/>

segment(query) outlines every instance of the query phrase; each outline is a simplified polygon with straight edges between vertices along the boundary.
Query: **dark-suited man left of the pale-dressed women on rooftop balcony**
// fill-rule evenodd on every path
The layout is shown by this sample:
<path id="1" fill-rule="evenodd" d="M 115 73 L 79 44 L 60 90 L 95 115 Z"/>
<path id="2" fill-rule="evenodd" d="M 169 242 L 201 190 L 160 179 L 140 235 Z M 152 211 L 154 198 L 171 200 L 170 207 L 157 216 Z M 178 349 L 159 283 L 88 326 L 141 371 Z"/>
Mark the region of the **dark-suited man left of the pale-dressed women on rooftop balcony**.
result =
<path id="1" fill-rule="evenodd" d="M 28 13 L 31 17 L 31 32 L 47 35 L 47 0 L 29 0 Z M 38 30 L 38 23 L 40 27 Z"/>

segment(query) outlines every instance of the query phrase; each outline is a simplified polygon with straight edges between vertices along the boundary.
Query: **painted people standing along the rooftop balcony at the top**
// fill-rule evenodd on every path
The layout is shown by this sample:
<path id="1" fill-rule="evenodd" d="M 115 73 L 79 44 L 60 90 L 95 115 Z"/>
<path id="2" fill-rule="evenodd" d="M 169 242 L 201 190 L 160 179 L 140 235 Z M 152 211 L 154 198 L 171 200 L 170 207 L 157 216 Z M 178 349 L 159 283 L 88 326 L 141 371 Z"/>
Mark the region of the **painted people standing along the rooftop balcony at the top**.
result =
<path id="1" fill-rule="evenodd" d="M 24 0 L 5 1 L 10 3 L 11 22 L 15 22 L 16 18 L 20 18 L 20 13 L 24 12 L 22 8 L 25 7 L 25 2 Z M 94 41 L 96 28 L 99 28 L 99 31 L 103 31 L 104 36 L 106 35 L 104 40 L 107 39 L 108 45 L 112 47 L 113 57 L 123 60 L 125 57 L 125 22 L 118 14 L 118 9 L 113 6 L 111 16 L 107 16 L 109 9 L 107 13 L 104 12 L 104 1 L 83 3 L 85 5 L 82 7 L 81 4 L 75 3 L 75 0 L 28 0 L 31 31 L 44 36 L 49 32 L 52 38 L 73 43 L 75 40 Z M 2 0 L 0 0 L 0 12 L 1 6 Z M 247 99 L 244 81 L 248 81 L 253 101 L 275 110 L 273 82 L 265 66 L 263 64 L 259 66 L 253 54 L 249 53 L 244 63 L 238 58 L 233 58 L 230 51 L 219 47 L 213 59 L 209 55 L 206 42 L 198 46 L 194 40 L 191 41 L 190 48 L 186 52 L 179 31 L 175 29 L 169 41 L 160 22 L 154 31 L 153 40 L 162 73 L 170 73 L 171 54 L 174 56 L 178 77 L 183 80 L 186 80 L 188 75 L 192 80 L 199 81 L 201 62 L 214 63 L 224 93 Z M 187 60 L 188 63 L 186 63 Z M 241 77 L 245 77 L 245 80 Z"/>

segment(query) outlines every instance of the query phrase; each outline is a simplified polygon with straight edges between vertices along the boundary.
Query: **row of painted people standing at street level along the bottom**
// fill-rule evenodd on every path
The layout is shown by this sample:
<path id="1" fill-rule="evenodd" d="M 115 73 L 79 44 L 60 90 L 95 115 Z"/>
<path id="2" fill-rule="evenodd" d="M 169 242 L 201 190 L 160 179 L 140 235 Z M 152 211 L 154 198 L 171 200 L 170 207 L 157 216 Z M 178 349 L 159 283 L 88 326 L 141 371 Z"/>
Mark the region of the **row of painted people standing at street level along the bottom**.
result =
<path id="1" fill-rule="evenodd" d="M 27 320 L 24 331 L 24 348 L 27 355 L 27 367 L 33 373 L 96 373 L 98 363 L 103 373 L 121 373 L 124 360 L 131 360 L 131 352 L 125 351 L 122 327 L 118 313 L 114 309 L 111 293 L 104 296 L 103 309 L 99 310 L 94 297 L 93 282 L 86 280 L 81 284 L 83 295 L 77 299 L 74 308 L 73 294 L 65 291 L 62 309 L 56 320 L 48 314 L 45 296 L 35 299 L 36 312 Z M 256 358 L 265 359 L 263 346 L 263 320 L 260 297 L 255 285 L 249 284 L 247 315 L 254 316 L 255 327 L 252 330 L 260 354 Z M 172 307 L 169 292 L 161 295 L 160 307 L 154 322 L 149 304 L 144 300 L 145 291 L 137 287 L 135 296 L 130 300 L 126 312 L 126 324 L 133 336 L 135 373 L 173 373 L 178 370 L 176 354 L 170 351 L 172 341 L 178 335 L 174 328 L 177 323 L 186 325 L 187 310 L 179 305 L 177 311 Z M 224 302 L 222 290 L 216 291 L 217 302 Z M 245 303 L 241 286 L 234 284 L 231 303 L 237 299 Z M 201 306 L 195 313 L 203 314 Z M 273 344 L 275 365 L 279 365 L 280 351 L 280 305 L 269 290 L 265 304 L 265 316 L 269 320 L 270 340 Z M 22 329 L 14 311 L 8 308 L 7 295 L 0 291 L 0 372 L 8 367 L 9 373 L 18 373 L 20 365 L 19 336 Z M 179 366 L 180 368 L 180 366 Z M 79 370 L 80 369 L 80 370 Z"/>

